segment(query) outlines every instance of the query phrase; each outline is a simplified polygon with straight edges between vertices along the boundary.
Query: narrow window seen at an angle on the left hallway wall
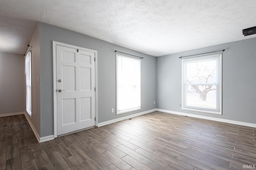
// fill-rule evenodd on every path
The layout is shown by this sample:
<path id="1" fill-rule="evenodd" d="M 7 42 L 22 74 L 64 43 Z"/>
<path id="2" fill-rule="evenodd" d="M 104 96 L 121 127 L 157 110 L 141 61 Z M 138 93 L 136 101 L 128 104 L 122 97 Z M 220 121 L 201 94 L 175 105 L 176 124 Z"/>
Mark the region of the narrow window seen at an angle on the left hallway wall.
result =
<path id="1" fill-rule="evenodd" d="M 26 111 L 31 116 L 31 52 L 25 58 L 25 74 L 26 74 Z"/>

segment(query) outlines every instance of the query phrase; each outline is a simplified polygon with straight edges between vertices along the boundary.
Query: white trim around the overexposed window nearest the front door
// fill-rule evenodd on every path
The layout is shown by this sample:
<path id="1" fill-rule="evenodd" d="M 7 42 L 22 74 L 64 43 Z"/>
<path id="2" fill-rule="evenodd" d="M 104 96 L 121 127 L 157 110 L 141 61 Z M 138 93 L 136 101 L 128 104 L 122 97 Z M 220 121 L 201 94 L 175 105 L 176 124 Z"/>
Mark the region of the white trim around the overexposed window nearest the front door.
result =
<path id="1" fill-rule="evenodd" d="M 139 60 L 140 61 L 140 59 L 136 59 L 134 57 L 127 57 L 127 56 L 124 56 L 124 55 L 116 54 L 116 114 L 117 115 L 141 109 L 141 63 L 140 63 L 140 106 L 139 107 L 130 108 L 130 109 L 125 109 L 125 110 L 122 110 L 122 111 L 118 111 L 118 56 L 126 57 L 126 58 L 129 58 L 129 59 L 134 59 L 134 60 Z"/>

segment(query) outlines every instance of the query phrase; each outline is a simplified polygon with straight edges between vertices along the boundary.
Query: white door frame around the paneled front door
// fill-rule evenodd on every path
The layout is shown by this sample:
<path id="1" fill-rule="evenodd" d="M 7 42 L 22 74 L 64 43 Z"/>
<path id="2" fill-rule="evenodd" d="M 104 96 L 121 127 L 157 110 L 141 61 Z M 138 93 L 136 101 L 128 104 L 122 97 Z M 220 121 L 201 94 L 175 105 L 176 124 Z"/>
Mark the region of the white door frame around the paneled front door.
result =
<path id="1" fill-rule="evenodd" d="M 94 53 L 94 57 L 95 57 L 95 87 L 96 87 L 96 91 L 95 91 L 95 126 L 98 126 L 98 67 L 97 67 L 97 51 L 95 50 L 91 50 L 91 49 L 86 49 L 83 47 L 77 47 L 74 45 L 70 45 L 70 44 L 65 44 L 65 43 L 60 43 L 57 41 L 52 41 L 52 58 L 53 58 L 53 112 L 54 112 L 54 138 L 57 137 L 58 135 L 58 126 L 57 126 L 57 75 L 56 75 L 56 45 L 60 45 L 63 47 L 69 47 L 69 48 L 73 48 L 73 49 L 78 49 L 78 50 L 83 50 L 83 51 L 89 51 Z"/>

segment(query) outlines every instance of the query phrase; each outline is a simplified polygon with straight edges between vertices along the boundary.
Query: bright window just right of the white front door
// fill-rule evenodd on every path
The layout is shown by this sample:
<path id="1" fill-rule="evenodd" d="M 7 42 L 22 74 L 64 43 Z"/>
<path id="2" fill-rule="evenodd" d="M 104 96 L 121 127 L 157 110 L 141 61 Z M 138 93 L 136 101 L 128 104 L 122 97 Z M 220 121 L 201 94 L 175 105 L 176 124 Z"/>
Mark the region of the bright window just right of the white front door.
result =
<path id="1" fill-rule="evenodd" d="M 140 109 L 140 59 L 116 55 L 117 114 Z"/>

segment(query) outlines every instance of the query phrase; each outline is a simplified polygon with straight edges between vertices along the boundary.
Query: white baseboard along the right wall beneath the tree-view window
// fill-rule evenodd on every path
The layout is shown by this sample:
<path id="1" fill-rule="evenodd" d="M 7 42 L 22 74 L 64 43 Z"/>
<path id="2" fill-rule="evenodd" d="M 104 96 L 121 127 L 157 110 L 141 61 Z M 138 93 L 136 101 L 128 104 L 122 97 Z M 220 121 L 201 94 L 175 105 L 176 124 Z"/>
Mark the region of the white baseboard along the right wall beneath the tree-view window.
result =
<path id="1" fill-rule="evenodd" d="M 194 114 L 182 113 L 182 112 L 178 112 L 178 111 L 170 111 L 170 110 L 164 110 L 164 109 L 156 109 L 156 111 L 162 111 L 162 112 L 166 112 L 166 113 L 172 113 L 172 114 L 175 114 L 175 115 L 183 115 L 183 116 L 189 116 L 189 117 L 196 117 L 196 118 L 207 119 L 207 120 L 213 120 L 213 121 L 220 121 L 220 122 L 225 122 L 225 123 L 232 123 L 232 124 L 236 124 L 236 125 L 243 125 L 243 126 L 249 126 L 249 127 L 256 127 L 256 124 L 254 124 L 254 123 L 246 123 L 246 122 L 242 122 L 242 121 L 234 121 L 234 120 L 228 120 L 228 119 L 220 119 L 220 118 L 215 118 L 215 117 L 194 115 Z"/>

